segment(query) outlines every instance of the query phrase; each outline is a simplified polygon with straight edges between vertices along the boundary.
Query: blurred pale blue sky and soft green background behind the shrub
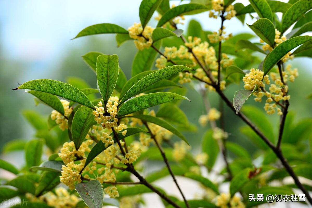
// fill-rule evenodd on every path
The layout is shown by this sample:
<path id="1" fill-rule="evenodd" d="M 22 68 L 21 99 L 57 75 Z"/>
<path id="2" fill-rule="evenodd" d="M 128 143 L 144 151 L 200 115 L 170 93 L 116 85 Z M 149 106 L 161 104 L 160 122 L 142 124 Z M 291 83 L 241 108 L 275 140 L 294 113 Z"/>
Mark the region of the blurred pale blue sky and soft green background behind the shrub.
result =
<path id="1" fill-rule="evenodd" d="M 283 0 L 281 0 L 283 1 Z M 183 1 L 182 3 L 188 1 Z M 249 4 L 247 0 L 239 0 L 244 5 Z M 287 1 L 284 1 L 287 2 Z M 170 1 L 170 4 L 179 5 L 180 1 Z M 55 79 L 66 82 L 68 77 L 80 77 L 91 87 L 96 88 L 96 76 L 83 62 L 81 56 L 90 51 L 99 51 L 105 54 L 117 54 L 119 66 L 130 78 L 131 65 L 137 51 L 133 42 L 125 42 L 117 47 L 115 35 L 105 34 L 97 36 L 82 37 L 70 40 L 83 28 L 97 23 L 115 23 L 121 27 L 128 28 L 134 22 L 139 22 L 140 0 L 90 0 L 90 1 L 42 1 L 42 0 L 0 0 L 0 143 L 4 144 L 12 139 L 32 139 L 33 129 L 22 116 L 25 109 L 36 110 L 42 115 L 48 116 L 51 109 L 44 105 L 35 105 L 31 94 L 24 94 L 22 90 L 12 91 L 12 88 L 33 79 Z M 281 14 L 279 14 L 281 17 Z M 154 14 L 157 16 L 157 14 Z M 217 31 L 220 27 L 220 19 L 208 18 L 208 12 L 193 16 L 186 16 L 184 25 L 180 29 L 186 30 L 188 22 L 195 19 L 202 24 L 206 31 Z M 255 19 L 246 15 L 248 24 Z M 151 19 L 149 25 L 155 27 L 156 20 Z M 236 18 L 225 22 L 226 31 L 233 35 L 252 31 Z M 287 32 L 285 33 L 287 34 Z M 311 35 L 311 34 L 309 34 Z M 253 41 L 259 41 L 255 37 Z M 262 57 L 260 56 L 260 59 Z M 289 61 L 291 65 L 299 69 L 300 76 L 294 83 L 290 83 L 290 111 L 295 112 L 295 120 L 312 116 L 311 100 L 306 97 L 312 89 L 312 61 L 308 58 L 296 58 Z M 242 89 L 241 85 L 230 85 L 226 94 L 232 100 L 234 93 Z M 183 102 L 182 110 L 188 116 L 190 122 L 198 126 L 197 132 L 185 133 L 192 145 L 192 151 L 197 152 L 200 148 L 200 139 L 205 128 L 199 126 L 198 117 L 205 113 L 201 95 L 196 87 L 190 88 L 186 95 L 192 102 Z M 216 94 L 209 95 L 212 106 L 217 107 L 219 98 Z M 257 105 L 261 109 L 263 103 L 255 103 L 252 99 L 246 104 Z M 248 151 L 253 152 L 255 146 L 246 137 L 241 135 L 238 127 L 241 121 L 225 107 L 226 131 L 230 132 L 229 140 L 234 141 Z M 277 133 L 278 116 L 269 117 Z M 2 145 L 0 151 L 2 149 Z M 23 165 L 23 153 L 2 154 L 2 158 L 15 164 Z M 218 160 L 217 166 L 222 167 L 222 160 Z M 153 170 L 153 167 L 150 167 Z M 166 181 L 167 180 L 167 181 Z M 170 182 L 166 179 L 159 182 L 159 186 Z M 189 181 L 184 181 L 182 189 L 190 187 Z M 173 183 L 168 187 L 168 192 L 175 192 Z M 196 190 L 187 193 L 192 198 Z M 156 205 L 161 206 L 157 196 L 152 197 Z M 159 203 L 159 204 L 157 204 Z M 155 204 L 154 204 L 155 205 Z M 153 204 L 148 203 L 149 207 Z"/>

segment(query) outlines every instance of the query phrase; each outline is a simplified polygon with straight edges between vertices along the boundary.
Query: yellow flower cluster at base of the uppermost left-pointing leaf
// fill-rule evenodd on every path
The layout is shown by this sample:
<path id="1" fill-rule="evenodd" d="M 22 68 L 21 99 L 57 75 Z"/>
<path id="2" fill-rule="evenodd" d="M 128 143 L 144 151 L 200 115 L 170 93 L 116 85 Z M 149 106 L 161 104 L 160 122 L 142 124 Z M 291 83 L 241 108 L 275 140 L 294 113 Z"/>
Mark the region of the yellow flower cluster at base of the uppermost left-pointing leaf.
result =
<path id="1" fill-rule="evenodd" d="M 143 30 L 141 23 L 134 23 L 133 26 L 128 28 L 128 31 L 129 36 L 134 39 L 134 44 L 140 51 L 152 45 L 154 28 L 145 26 Z"/>

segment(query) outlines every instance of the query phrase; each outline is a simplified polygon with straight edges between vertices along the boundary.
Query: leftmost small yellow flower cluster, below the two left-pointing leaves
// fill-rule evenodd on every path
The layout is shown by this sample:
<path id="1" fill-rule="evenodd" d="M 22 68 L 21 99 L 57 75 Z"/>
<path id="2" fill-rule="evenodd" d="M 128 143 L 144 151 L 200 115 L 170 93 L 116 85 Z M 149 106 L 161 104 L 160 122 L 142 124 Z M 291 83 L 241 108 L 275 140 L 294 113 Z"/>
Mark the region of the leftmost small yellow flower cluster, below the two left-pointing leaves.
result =
<path id="1" fill-rule="evenodd" d="M 69 107 L 69 102 L 67 100 L 60 100 L 63 107 L 64 107 L 64 116 L 69 116 L 71 115 L 71 112 L 73 111 L 73 109 L 71 107 Z M 56 124 L 59 125 L 61 130 L 65 130 L 68 129 L 68 120 L 64 117 L 60 112 L 53 110 L 51 112 L 51 119 L 55 122 Z"/>

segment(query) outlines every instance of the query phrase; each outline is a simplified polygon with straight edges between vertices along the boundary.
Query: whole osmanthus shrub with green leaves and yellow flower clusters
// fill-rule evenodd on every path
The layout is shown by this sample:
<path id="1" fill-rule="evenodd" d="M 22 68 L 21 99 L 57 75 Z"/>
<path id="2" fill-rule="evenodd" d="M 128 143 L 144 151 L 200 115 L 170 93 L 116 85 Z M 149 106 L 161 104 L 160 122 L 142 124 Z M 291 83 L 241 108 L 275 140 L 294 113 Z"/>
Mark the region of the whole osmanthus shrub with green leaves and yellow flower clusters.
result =
<path id="1" fill-rule="evenodd" d="M 305 195 L 306 203 L 312 204 L 308 193 L 311 184 L 303 184 L 305 178 L 312 180 L 311 155 L 307 139 L 301 139 L 309 136 L 312 122 L 295 125 L 287 116 L 291 101 L 291 88 L 287 84 L 299 76 L 298 70 L 287 62 L 311 56 L 312 37 L 300 35 L 310 30 L 312 19 L 308 11 L 312 2 L 250 0 L 246 7 L 234 2 L 191 1 L 170 8 L 168 0 L 143 0 L 139 8 L 141 22 L 128 30 L 103 23 L 79 32 L 75 38 L 116 33 L 118 45 L 133 41 L 138 52 L 132 77 L 128 80 L 119 68 L 117 55 L 90 52 L 83 59 L 96 73 L 97 89 L 78 89 L 49 79 L 32 80 L 14 89 L 25 89 L 53 110 L 47 124 L 36 121 L 38 139 L 23 147 L 25 168 L 18 170 L 0 161 L 1 168 L 17 174 L 6 182 L 8 186 L 0 186 L 2 199 L 19 196 L 26 198 L 32 207 L 129 208 L 143 204 L 141 194 L 152 191 L 162 198 L 165 207 L 241 208 L 266 203 L 250 200 L 250 195 L 264 194 L 264 198 L 269 194 L 293 195 L 293 188 L 297 188 Z M 158 24 L 153 28 L 147 24 L 156 11 Z M 207 17 L 220 19 L 219 29 L 203 31 L 194 20 L 189 23 L 192 36 L 178 29 L 185 15 L 206 11 Z M 235 17 L 244 23 L 245 15 L 255 12 L 259 18 L 248 27 L 260 38 L 256 43 L 249 41 L 252 37 L 249 34 L 233 36 L 225 31 L 224 22 Z M 275 12 L 283 13 L 282 20 Z M 295 29 L 284 35 L 294 23 Z M 254 53 L 265 56 L 263 61 L 258 62 L 260 59 Z M 158 70 L 150 70 L 154 61 Z M 232 95 L 231 102 L 224 92 L 235 82 L 244 83 L 244 89 Z M 180 132 L 191 131 L 194 125 L 179 108 L 181 101 L 189 100 L 177 87 L 194 87 L 203 95 L 206 114 L 198 117 L 198 124 L 207 131 L 198 154 L 190 151 L 188 141 L 193 138 Z M 210 106 L 208 93 L 220 96 L 220 106 Z M 94 94 L 101 96 L 96 98 Z M 245 106 L 242 108 L 245 114 L 241 112 L 251 95 L 256 102 L 265 97 L 263 111 L 280 116 L 277 135 L 260 110 Z M 258 145 L 255 154 L 227 141 L 231 132 L 226 131 L 223 122 L 224 103 L 236 112 L 237 119 L 247 124 L 241 133 Z M 197 104 L 193 103 L 192 108 L 198 108 Z M 40 118 L 26 116 L 31 122 Z M 42 162 L 43 148 L 48 159 Z M 215 170 L 219 152 L 225 167 Z M 143 174 L 142 163 L 153 159 L 163 161 L 166 167 Z M 217 172 L 222 180 L 211 181 L 205 175 L 207 171 Z M 168 175 L 179 190 L 179 198 L 169 196 L 166 187 L 153 184 Z M 181 189 L 177 175 L 199 182 L 204 194 L 186 198 L 188 190 Z M 294 182 L 284 184 L 282 180 L 287 176 Z M 298 176 L 302 178 L 299 180 Z M 279 182 L 272 183 L 276 180 Z M 229 190 L 220 193 L 220 186 L 228 183 Z"/>

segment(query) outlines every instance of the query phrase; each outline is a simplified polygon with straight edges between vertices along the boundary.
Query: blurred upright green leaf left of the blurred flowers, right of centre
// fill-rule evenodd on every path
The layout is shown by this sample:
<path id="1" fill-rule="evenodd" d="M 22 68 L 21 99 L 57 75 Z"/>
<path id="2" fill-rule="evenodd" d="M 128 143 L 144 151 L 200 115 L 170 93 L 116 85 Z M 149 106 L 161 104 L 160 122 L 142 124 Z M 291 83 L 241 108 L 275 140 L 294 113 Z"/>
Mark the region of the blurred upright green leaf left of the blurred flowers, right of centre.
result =
<path id="1" fill-rule="evenodd" d="M 207 153 L 209 156 L 206 165 L 211 170 L 219 154 L 219 146 L 212 137 L 212 130 L 206 131 L 202 137 L 202 152 Z"/>

